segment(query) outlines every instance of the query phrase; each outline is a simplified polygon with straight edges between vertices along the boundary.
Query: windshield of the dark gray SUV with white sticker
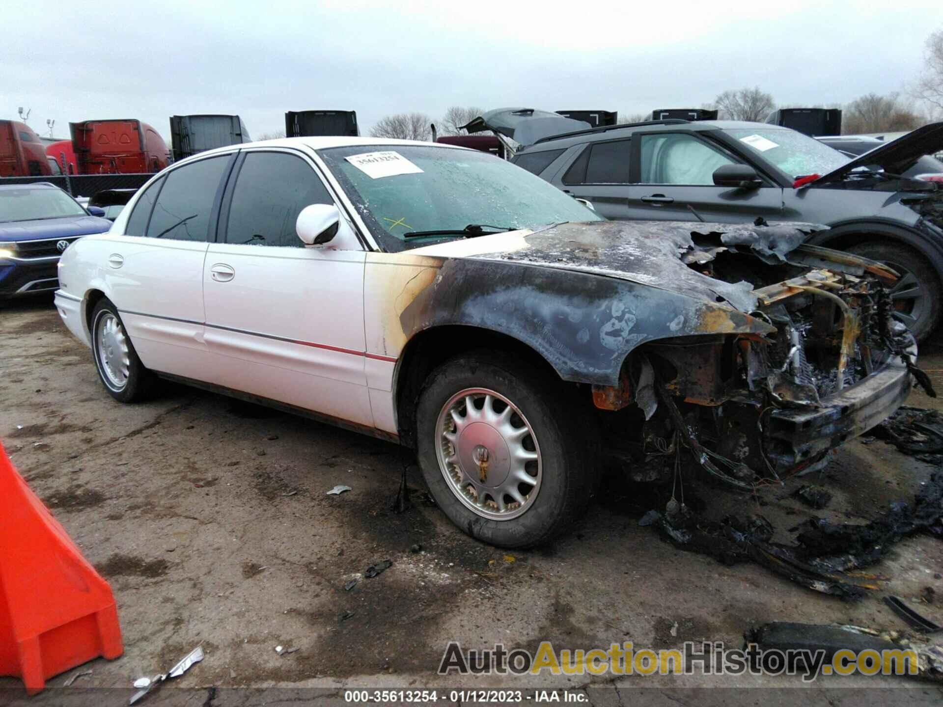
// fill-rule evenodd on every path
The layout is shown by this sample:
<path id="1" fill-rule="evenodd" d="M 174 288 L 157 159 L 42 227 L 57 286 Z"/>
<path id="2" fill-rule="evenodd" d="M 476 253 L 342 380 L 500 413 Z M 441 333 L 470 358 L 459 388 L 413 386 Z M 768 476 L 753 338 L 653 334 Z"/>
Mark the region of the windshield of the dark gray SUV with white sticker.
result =
<path id="1" fill-rule="evenodd" d="M 834 148 L 795 130 L 738 127 L 725 132 L 793 178 L 827 174 L 850 161 Z"/>

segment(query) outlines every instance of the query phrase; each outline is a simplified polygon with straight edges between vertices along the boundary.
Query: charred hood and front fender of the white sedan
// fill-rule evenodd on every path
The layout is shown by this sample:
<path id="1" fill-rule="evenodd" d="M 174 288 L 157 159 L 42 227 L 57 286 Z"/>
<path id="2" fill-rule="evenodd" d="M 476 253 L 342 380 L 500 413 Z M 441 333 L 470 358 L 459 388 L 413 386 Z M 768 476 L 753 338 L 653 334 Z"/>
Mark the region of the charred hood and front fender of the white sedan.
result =
<path id="1" fill-rule="evenodd" d="M 542 354 L 564 380 L 612 386 L 643 343 L 774 332 L 769 318 L 753 313 L 768 296 L 782 296 L 791 278 L 802 278 L 796 291 L 816 277 L 829 287 L 842 273 L 894 280 L 869 260 L 802 245 L 817 228 L 562 223 L 429 246 L 414 253 L 437 258 L 440 270 L 400 323 L 407 339 L 441 324 L 502 332 Z"/>

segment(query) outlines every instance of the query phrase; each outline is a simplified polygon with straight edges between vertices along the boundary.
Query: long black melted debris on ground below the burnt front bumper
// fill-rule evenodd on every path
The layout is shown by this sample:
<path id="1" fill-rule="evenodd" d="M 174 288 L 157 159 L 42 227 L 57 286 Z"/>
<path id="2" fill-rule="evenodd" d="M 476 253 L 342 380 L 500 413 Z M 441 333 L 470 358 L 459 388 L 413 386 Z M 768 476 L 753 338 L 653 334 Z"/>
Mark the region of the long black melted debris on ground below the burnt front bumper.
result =
<path id="1" fill-rule="evenodd" d="M 793 545 L 772 542 L 773 526 L 762 516 L 710 520 L 676 501 L 664 514 L 649 511 L 639 524 L 653 525 L 679 548 L 725 565 L 755 562 L 809 589 L 857 599 L 880 588 L 881 581 L 858 570 L 877 563 L 903 537 L 919 532 L 943 537 L 943 472 L 920 485 L 913 503 L 892 503 L 867 524 L 811 518 L 794 529 Z"/>

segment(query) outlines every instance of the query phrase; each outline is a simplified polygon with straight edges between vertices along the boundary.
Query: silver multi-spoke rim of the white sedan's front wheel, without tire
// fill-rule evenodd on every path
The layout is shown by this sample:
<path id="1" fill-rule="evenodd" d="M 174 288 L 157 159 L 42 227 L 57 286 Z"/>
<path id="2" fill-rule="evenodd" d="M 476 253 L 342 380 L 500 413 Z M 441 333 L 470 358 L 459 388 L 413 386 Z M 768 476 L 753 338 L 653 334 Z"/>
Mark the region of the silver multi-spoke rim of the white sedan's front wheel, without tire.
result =
<path id="1" fill-rule="evenodd" d="M 442 406 L 438 466 L 475 514 L 518 518 L 534 503 L 542 474 L 537 437 L 521 411 L 493 390 L 467 388 Z"/>

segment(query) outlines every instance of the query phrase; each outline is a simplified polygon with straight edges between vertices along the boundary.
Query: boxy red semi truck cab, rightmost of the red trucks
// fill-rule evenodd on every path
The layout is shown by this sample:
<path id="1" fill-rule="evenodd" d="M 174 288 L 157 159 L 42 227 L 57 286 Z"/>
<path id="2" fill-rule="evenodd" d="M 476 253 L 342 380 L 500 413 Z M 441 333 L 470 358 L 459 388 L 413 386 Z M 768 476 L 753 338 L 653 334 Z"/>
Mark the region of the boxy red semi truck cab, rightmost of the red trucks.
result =
<path id="1" fill-rule="evenodd" d="M 79 174 L 140 174 L 167 166 L 167 143 L 137 120 L 69 123 Z"/>

